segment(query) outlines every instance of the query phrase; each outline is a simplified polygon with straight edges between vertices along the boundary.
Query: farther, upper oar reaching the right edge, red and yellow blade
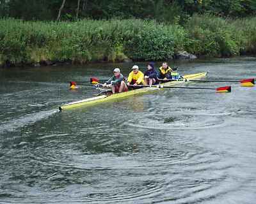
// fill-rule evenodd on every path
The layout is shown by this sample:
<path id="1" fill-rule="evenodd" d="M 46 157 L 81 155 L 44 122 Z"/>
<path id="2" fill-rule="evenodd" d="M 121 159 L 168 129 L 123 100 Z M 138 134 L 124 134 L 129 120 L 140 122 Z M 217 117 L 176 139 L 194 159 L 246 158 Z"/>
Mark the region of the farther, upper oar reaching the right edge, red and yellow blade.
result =
<path id="1" fill-rule="evenodd" d="M 221 80 L 221 79 L 158 79 L 161 82 L 170 82 L 170 81 L 182 81 L 182 82 L 240 82 L 242 87 L 253 87 L 255 85 L 254 78 L 247 78 L 243 80 Z"/>

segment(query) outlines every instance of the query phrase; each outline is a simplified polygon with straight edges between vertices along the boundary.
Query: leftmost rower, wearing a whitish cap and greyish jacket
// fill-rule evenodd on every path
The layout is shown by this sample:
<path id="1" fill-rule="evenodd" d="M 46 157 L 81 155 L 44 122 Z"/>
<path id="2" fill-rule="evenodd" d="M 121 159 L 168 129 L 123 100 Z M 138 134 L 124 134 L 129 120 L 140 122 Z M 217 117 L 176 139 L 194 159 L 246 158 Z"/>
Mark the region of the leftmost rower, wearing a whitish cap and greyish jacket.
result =
<path id="1" fill-rule="evenodd" d="M 113 94 L 128 91 L 128 87 L 124 82 L 124 76 L 121 74 L 119 68 L 115 68 L 113 71 L 113 77 L 109 78 L 104 87 L 112 87 Z"/>

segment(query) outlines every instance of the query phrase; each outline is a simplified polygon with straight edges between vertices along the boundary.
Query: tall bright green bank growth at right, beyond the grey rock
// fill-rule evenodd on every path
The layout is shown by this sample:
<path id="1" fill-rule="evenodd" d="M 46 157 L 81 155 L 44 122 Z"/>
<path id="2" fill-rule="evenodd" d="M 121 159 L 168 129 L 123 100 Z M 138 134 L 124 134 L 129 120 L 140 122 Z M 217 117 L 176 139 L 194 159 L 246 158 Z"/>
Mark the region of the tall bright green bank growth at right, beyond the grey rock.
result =
<path id="1" fill-rule="evenodd" d="M 196 55 L 229 57 L 256 52 L 256 17 L 231 20 L 194 15 L 185 29 L 186 50 Z"/>

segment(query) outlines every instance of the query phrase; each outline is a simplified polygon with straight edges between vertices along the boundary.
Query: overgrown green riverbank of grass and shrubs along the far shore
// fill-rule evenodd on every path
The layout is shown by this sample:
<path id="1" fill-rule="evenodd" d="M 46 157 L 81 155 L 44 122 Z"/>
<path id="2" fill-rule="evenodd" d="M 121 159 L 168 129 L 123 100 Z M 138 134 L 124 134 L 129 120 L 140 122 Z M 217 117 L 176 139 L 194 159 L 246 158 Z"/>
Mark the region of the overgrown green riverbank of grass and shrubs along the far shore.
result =
<path id="1" fill-rule="evenodd" d="M 0 64 L 165 61 L 182 51 L 197 57 L 256 53 L 256 17 L 194 15 L 184 25 L 153 20 L 28 22 L 0 20 Z"/>

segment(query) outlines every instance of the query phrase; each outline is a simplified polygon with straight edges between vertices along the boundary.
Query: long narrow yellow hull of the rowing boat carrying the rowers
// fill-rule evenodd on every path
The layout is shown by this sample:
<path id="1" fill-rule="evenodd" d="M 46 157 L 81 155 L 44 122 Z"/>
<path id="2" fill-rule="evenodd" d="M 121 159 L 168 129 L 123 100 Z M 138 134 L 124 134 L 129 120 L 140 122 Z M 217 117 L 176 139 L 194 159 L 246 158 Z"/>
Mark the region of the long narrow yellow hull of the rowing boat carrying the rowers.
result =
<path id="1" fill-rule="evenodd" d="M 207 75 L 207 72 L 202 72 L 202 73 L 195 73 L 195 74 L 191 74 L 191 75 L 184 75 L 183 78 L 185 78 L 187 80 L 193 80 L 193 79 L 204 78 L 204 77 L 206 77 L 206 75 Z M 164 83 L 164 85 L 175 86 L 175 85 L 179 85 L 179 84 L 183 84 L 183 83 L 185 83 L 185 80 L 166 82 L 166 83 Z M 160 89 L 161 89 L 161 87 L 160 87 Z M 159 90 L 159 88 L 157 88 L 157 87 L 144 87 L 141 89 L 134 89 L 134 90 L 127 91 L 127 92 L 112 94 L 110 96 L 107 96 L 107 95 L 96 96 L 93 98 L 87 98 L 87 99 L 83 99 L 80 101 L 74 101 L 72 103 L 67 103 L 65 105 L 59 106 L 59 110 L 60 111 L 67 110 L 67 109 L 76 108 L 79 106 L 96 105 L 97 103 L 103 103 L 106 101 L 115 101 L 116 99 L 125 98 L 125 97 L 133 96 L 136 94 L 143 94 L 143 93 L 147 93 L 147 92 L 157 91 L 157 90 Z"/>

